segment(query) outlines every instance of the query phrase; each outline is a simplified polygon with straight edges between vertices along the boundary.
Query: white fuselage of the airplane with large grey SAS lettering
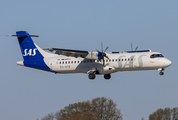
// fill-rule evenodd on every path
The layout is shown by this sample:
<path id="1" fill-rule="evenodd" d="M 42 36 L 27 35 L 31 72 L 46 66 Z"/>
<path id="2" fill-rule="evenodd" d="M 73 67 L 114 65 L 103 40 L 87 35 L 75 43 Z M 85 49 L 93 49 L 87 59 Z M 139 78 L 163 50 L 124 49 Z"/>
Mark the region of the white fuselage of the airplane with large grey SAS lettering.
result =
<path id="1" fill-rule="evenodd" d="M 158 70 L 171 65 L 165 57 L 150 58 L 158 52 L 114 53 L 107 54 L 110 58 L 103 61 L 89 60 L 81 57 L 56 56 L 44 58 L 47 66 L 56 73 L 88 73 L 97 70 L 98 74 L 110 74 L 118 71 Z"/>

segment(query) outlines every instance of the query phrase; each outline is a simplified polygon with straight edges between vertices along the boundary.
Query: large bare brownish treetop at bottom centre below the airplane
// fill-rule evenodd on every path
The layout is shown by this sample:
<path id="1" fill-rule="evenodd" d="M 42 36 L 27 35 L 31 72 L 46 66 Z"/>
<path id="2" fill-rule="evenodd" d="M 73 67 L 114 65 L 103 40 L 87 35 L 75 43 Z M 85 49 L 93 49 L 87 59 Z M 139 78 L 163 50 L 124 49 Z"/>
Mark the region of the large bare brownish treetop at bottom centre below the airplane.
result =
<path id="1" fill-rule="evenodd" d="M 99 97 L 92 101 L 69 104 L 54 116 L 56 120 L 122 120 L 122 114 L 116 106 L 112 99 Z M 44 118 L 42 120 L 48 120 Z"/>

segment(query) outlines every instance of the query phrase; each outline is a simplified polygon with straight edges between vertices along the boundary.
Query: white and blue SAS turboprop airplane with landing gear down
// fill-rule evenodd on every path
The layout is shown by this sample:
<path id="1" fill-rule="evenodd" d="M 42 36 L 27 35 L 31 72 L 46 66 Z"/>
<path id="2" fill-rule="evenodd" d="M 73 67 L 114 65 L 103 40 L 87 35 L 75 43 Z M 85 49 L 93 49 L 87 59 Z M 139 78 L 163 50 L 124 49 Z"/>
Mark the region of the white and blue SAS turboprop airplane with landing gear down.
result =
<path id="1" fill-rule="evenodd" d="M 111 73 L 119 71 L 158 70 L 160 75 L 164 75 L 165 68 L 172 64 L 161 53 L 151 50 L 106 53 L 109 47 L 103 51 L 103 44 L 101 44 L 102 51 L 41 49 L 31 38 L 38 37 L 37 35 L 17 31 L 16 35 L 7 36 L 18 38 L 24 60 L 18 61 L 17 65 L 53 73 L 85 73 L 91 80 L 95 79 L 96 75 L 104 75 L 108 80 L 111 78 Z"/>

